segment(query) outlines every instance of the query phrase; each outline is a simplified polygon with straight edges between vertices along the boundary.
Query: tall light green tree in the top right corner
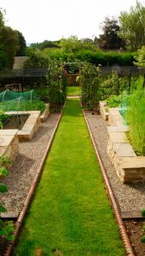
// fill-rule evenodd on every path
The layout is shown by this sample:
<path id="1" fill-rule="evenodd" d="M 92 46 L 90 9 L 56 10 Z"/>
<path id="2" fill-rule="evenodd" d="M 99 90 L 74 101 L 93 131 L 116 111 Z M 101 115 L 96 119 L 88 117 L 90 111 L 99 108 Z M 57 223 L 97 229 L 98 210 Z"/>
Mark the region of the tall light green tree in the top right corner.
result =
<path id="1" fill-rule="evenodd" d="M 119 37 L 125 41 L 126 48 L 132 51 L 145 45 L 145 7 L 136 2 L 130 13 L 121 12 L 119 16 Z"/>

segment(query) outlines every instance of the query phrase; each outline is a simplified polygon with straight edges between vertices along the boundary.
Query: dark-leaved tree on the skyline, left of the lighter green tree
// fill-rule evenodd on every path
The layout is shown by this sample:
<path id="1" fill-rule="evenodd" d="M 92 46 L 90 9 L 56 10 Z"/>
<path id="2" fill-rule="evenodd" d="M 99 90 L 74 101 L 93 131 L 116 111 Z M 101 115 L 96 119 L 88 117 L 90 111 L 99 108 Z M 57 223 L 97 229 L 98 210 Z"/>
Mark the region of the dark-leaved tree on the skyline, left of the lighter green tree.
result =
<path id="1" fill-rule="evenodd" d="M 102 23 L 103 34 L 97 38 L 97 43 L 101 49 L 120 49 L 124 47 L 124 42 L 118 36 L 118 20 L 108 17 Z"/>

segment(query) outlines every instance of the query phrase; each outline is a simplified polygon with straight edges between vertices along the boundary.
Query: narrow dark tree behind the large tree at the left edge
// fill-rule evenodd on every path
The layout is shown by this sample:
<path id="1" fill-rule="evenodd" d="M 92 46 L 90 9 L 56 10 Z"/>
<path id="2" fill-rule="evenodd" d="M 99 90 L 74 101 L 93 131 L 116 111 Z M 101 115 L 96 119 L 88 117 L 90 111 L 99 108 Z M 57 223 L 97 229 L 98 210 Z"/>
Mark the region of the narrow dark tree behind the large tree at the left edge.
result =
<path id="1" fill-rule="evenodd" d="M 17 56 L 25 56 L 26 55 L 26 39 L 22 35 L 21 32 L 15 30 L 18 34 L 18 49 L 16 51 Z"/>

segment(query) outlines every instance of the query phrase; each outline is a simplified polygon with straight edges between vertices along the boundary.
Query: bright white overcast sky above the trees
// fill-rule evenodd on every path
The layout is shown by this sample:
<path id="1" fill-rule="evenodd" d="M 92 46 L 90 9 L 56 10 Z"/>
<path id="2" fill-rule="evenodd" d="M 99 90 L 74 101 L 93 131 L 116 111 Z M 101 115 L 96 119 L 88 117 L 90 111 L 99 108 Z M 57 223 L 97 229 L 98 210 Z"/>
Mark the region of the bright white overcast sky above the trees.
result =
<path id="1" fill-rule="evenodd" d="M 145 6 L 145 0 L 140 0 Z M 77 36 L 95 38 L 105 17 L 129 12 L 136 0 L 1 0 L 6 26 L 20 31 L 27 44 Z"/>

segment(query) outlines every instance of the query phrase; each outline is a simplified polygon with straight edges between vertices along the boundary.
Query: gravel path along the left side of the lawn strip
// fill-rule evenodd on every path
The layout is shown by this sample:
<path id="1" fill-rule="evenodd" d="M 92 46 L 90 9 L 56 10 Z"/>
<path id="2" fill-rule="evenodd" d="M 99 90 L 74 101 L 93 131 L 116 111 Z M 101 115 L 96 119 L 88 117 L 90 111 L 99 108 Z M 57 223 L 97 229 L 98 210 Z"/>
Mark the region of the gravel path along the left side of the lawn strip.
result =
<path id="1" fill-rule="evenodd" d="M 23 207 L 59 116 L 60 113 L 50 114 L 31 141 L 19 144 L 20 154 L 10 168 L 9 176 L 2 180 L 9 189 L 1 195 L 1 203 L 7 210 L 20 211 Z"/>

